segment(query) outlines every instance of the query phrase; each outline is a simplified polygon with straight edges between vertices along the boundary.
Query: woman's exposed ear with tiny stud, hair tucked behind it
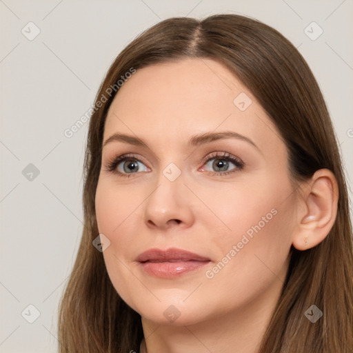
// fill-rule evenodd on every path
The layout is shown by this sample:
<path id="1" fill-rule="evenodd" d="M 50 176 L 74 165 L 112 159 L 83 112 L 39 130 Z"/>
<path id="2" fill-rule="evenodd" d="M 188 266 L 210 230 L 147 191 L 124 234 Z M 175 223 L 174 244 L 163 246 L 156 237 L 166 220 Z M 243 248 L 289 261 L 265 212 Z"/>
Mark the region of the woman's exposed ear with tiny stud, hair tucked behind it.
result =
<path id="1" fill-rule="evenodd" d="M 292 234 L 297 250 L 314 248 L 325 239 L 336 220 L 339 187 L 328 169 L 317 170 L 302 188 L 296 225 Z"/>

